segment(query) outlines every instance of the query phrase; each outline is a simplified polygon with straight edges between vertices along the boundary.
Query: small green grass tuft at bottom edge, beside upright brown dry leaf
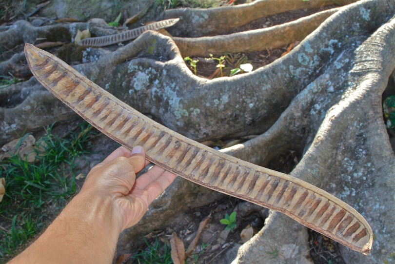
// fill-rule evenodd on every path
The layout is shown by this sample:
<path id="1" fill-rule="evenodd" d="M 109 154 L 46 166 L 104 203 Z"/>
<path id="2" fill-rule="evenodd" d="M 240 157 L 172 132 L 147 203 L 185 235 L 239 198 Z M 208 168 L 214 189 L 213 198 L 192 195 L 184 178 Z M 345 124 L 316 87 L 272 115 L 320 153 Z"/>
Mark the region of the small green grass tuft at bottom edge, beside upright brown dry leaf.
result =
<path id="1" fill-rule="evenodd" d="M 161 264 L 172 264 L 172 254 L 171 247 L 166 243 L 162 243 L 158 241 L 158 237 L 155 238 L 155 242 L 150 244 L 144 237 L 143 240 L 147 247 L 143 250 L 140 250 L 133 257 L 138 263 L 145 264 L 153 264 L 153 263 L 161 263 Z"/>

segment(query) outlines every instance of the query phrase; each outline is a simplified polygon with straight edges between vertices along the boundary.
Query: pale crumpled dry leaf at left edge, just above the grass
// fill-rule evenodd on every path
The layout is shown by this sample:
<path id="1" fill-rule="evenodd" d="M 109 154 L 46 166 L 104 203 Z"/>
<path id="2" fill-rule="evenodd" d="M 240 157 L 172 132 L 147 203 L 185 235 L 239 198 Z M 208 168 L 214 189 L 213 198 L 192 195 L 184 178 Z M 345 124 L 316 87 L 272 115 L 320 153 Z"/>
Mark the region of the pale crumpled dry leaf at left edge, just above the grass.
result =
<path id="1" fill-rule="evenodd" d="M 44 142 L 36 144 L 36 139 L 31 135 L 13 140 L 5 144 L 1 150 L 0 161 L 9 158 L 11 155 L 19 155 L 22 159 L 27 158 L 27 162 L 35 162 L 37 154 L 41 156 L 45 152 Z"/>

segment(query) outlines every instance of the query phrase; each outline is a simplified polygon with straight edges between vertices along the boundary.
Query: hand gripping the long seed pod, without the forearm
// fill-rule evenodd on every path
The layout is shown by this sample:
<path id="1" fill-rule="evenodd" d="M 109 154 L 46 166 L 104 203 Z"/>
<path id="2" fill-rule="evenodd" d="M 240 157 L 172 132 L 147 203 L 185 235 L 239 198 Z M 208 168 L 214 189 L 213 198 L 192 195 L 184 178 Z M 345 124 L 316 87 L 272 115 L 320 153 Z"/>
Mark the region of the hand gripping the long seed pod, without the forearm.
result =
<path id="1" fill-rule="evenodd" d="M 144 216 L 152 203 L 176 178 L 176 175 L 154 165 L 136 179 L 136 174 L 149 162 L 142 147 L 132 151 L 121 146 L 86 176 L 79 195 L 100 195 L 110 201 L 112 214 L 119 221 L 120 231 L 129 228 Z"/>

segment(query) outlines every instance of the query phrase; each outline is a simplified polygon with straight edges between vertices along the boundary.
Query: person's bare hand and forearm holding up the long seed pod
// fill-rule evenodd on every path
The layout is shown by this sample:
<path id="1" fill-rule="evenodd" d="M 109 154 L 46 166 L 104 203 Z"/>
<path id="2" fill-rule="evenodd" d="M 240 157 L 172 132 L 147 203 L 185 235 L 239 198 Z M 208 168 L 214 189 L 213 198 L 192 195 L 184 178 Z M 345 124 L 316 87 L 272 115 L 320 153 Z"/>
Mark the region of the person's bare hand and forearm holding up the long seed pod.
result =
<path id="1" fill-rule="evenodd" d="M 148 161 L 141 147 L 120 147 L 86 176 L 81 191 L 12 263 L 111 263 L 119 234 L 143 217 L 176 175 Z"/>

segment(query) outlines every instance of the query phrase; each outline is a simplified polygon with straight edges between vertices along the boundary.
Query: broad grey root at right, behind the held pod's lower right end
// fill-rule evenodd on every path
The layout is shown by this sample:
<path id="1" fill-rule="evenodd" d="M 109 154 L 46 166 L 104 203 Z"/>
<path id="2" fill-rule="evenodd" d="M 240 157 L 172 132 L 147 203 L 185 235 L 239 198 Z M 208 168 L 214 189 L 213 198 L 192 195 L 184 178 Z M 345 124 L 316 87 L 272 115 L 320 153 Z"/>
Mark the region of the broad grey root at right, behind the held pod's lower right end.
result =
<path id="1" fill-rule="evenodd" d="M 366 5 L 362 6 L 369 8 Z M 360 7 L 361 4 L 350 9 L 357 11 Z M 348 10 L 348 13 L 350 12 L 351 10 Z M 333 20 L 339 19 L 338 16 Z M 394 186 L 385 184 L 394 177 L 395 156 L 388 142 L 381 112 L 381 93 L 387 86 L 387 80 L 395 67 L 393 62 L 395 51 L 392 47 L 394 34 L 395 19 L 392 19 L 364 41 L 355 50 L 355 54 L 351 52 L 350 57 L 346 53 L 341 54 L 344 56 L 341 57 L 342 59 L 352 60 L 350 62 L 353 67 L 344 76 L 348 84 L 343 88 L 341 96 L 337 96 L 338 102 L 333 101 L 334 104 L 325 111 L 325 115 L 321 115 L 322 120 L 318 121 L 320 124 L 318 129 L 310 132 L 310 136 L 315 135 L 314 140 L 306 144 L 302 160 L 291 173 L 299 179 L 322 186 L 327 191 L 336 194 L 361 212 L 371 223 L 376 236 L 372 255 L 364 257 L 341 246 L 346 263 L 374 263 L 377 259 L 387 259 L 389 255 L 382 255 L 381 252 L 388 252 L 384 244 L 389 245 L 393 236 L 390 234 L 395 232 L 394 218 L 386 216 L 386 211 L 391 210 L 391 204 L 395 202 L 393 197 L 389 199 L 387 195 L 394 192 Z M 388 59 L 389 57 L 391 59 Z M 330 72 L 323 73 L 323 75 L 326 74 L 331 75 Z M 336 80 L 336 78 L 330 78 L 330 80 Z M 320 86 L 317 83 L 313 85 Z M 322 102 L 318 100 L 316 103 Z M 285 115 L 282 116 L 284 119 L 287 119 L 287 112 L 297 111 L 293 109 L 293 106 L 295 106 L 294 103 L 284 112 Z M 276 133 L 278 131 L 269 130 L 257 138 L 255 143 L 260 143 L 261 149 L 266 146 L 270 147 L 267 145 L 268 141 L 265 140 Z M 250 148 L 250 144 L 247 145 L 247 147 L 239 147 L 238 151 L 254 151 Z M 232 151 L 224 150 L 224 152 L 231 153 Z M 253 153 L 250 153 L 250 156 L 255 155 L 255 152 Z M 245 157 L 246 153 L 243 155 Z M 371 208 L 375 204 L 380 204 L 381 209 L 376 208 L 373 212 Z M 259 252 L 270 252 L 274 247 L 280 248 L 278 255 L 281 256 L 282 261 L 292 259 L 307 262 L 304 259 L 306 249 L 299 248 L 299 245 L 302 247 L 307 241 L 297 243 L 296 239 L 290 236 L 290 230 L 294 230 L 298 224 L 288 223 L 287 217 L 278 213 L 273 213 L 270 218 L 271 220 L 257 235 L 257 239 L 247 242 L 239 249 L 235 264 L 258 263 L 255 261 L 257 254 L 264 255 L 264 253 L 258 253 L 258 248 Z M 306 234 L 305 231 L 302 233 Z M 284 245 L 293 245 L 295 254 L 287 255 L 289 251 L 284 248 Z M 269 261 L 268 263 L 276 262 Z"/>

